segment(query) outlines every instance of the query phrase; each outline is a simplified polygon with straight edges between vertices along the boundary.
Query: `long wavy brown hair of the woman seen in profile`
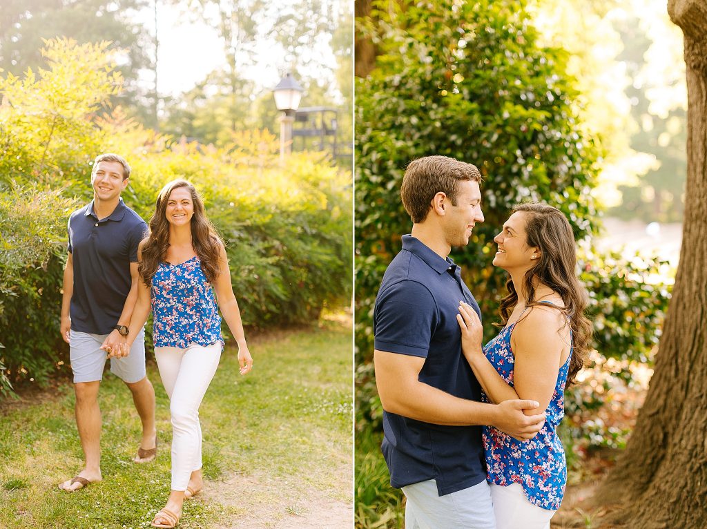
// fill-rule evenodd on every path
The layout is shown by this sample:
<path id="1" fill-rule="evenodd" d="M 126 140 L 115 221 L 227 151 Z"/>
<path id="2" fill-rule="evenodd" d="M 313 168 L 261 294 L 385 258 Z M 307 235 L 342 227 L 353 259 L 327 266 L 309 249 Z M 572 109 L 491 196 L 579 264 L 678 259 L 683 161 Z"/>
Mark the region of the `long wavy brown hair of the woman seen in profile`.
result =
<path id="1" fill-rule="evenodd" d="M 584 315 L 588 295 L 575 272 L 577 255 L 572 228 L 559 209 L 547 204 L 534 202 L 518 204 L 513 207 L 513 211 L 525 213 L 526 243 L 528 246 L 537 246 L 540 249 L 537 264 L 525 273 L 523 279 L 523 286 L 527 292 L 525 306 L 542 304 L 535 300 L 535 289 L 538 284 L 548 286 L 562 298 L 565 306 L 557 308 L 570 320 L 573 352 L 567 384 L 573 384 L 589 354 L 592 322 Z M 506 325 L 510 313 L 518 303 L 518 292 L 510 278 L 506 281 L 506 289 L 508 289 L 508 296 L 501 300 L 499 308 L 503 325 Z"/>

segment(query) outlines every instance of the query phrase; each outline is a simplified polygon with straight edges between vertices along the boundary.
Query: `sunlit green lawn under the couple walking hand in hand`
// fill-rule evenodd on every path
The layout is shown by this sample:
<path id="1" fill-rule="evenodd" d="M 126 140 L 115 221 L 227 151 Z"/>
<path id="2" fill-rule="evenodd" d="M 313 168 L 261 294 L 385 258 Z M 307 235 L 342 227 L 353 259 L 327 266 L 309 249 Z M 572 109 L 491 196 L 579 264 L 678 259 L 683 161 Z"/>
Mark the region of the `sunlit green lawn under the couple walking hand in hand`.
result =
<path id="1" fill-rule="evenodd" d="M 199 414 L 204 434 L 205 494 L 185 502 L 180 528 L 238 525 L 254 508 L 297 511 L 298 500 L 351 501 L 351 327 L 325 322 L 250 343 L 255 367 L 238 373 L 227 347 Z M 134 465 L 139 418 L 129 390 L 106 374 L 103 413 L 103 482 L 67 494 L 57 483 L 74 475 L 83 454 L 74 422 L 74 393 L 66 381 L 37 403 L 0 412 L 0 527 L 143 528 L 163 507 L 170 485 L 168 399 L 156 366 L 148 377 L 157 395 L 158 458 Z M 233 477 L 281 487 L 243 491 L 236 504 L 218 501 Z M 205 498 L 208 498 L 205 499 Z"/>

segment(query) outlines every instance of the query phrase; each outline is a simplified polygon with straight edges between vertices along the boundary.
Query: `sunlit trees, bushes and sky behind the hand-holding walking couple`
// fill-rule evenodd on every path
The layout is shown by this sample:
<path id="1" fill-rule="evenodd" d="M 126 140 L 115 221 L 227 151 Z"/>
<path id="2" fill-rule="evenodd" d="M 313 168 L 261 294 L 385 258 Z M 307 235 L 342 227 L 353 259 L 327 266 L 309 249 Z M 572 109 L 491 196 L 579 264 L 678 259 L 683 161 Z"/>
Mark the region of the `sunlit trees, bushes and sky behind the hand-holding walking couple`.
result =
<path id="1" fill-rule="evenodd" d="M 155 28 L 175 13 L 216 45 L 186 43 L 218 64 L 203 79 L 160 69 L 175 57 L 159 51 L 168 34 Z M 350 305 L 352 17 L 341 1 L 4 4 L 0 396 L 69 371 L 59 337 L 66 221 L 93 196 L 99 153 L 132 165 L 122 197 L 146 220 L 166 182 L 194 182 L 226 240 L 245 325 L 301 325 Z M 344 156 L 310 142 L 281 161 L 271 89 L 288 71 L 302 105 L 337 109 Z M 160 72 L 172 86 L 160 88 Z"/>

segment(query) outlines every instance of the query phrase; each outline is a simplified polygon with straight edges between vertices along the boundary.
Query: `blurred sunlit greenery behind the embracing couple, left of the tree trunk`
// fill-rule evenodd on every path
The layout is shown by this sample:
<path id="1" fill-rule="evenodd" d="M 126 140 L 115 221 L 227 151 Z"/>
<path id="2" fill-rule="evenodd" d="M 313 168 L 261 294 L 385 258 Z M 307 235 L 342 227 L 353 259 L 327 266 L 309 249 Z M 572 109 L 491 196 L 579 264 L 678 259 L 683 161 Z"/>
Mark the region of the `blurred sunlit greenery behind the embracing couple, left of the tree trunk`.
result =
<path id="1" fill-rule="evenodd" d="M 569 483 L 586 478 L 593 453 L 625 446 L 674 282 L 686 178 L 682 36 L 665 10 L 641 0 L 356 3 L 357 527 L 403 523 L 378 448 L 371 320 L 411 228 L 399 185 L 414 158 L 452 156 L 484 175 L 486 220 L 451 257 L 486 339 L 506 281 L 491 266 L 492 238 L 510 207 L 534 199 L 566 214 L 595 327 L 590 366 L 566 392 Z"/>

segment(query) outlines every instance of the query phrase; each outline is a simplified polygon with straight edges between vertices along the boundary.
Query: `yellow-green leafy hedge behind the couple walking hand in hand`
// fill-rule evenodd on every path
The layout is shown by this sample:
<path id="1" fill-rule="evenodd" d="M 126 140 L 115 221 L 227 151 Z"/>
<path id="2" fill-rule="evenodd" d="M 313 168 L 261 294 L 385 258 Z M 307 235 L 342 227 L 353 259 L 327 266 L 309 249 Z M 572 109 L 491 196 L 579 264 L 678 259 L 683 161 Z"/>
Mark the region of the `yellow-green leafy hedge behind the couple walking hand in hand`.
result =
<path id="1" fill-rule="evenodd" d="M 199 189 L 226 240 L 245 325 L 301 325 L 348 304 L 351 173 L 321 153 L 296 153 L 283 165 L 267 132 L 231 132 L 216 149 L 146 129 L 119 108 L 108 113 L 120 77 L 106 50 L 52 40 L 47 71 L 0 78 L 8 102 L 0 106 L 0 362 L 8 382 L 45 380 L 66 351 L 66 221 L 93 197 L 91 162 L 101 152 L 132 165 L 122 197 L 146 220 L 168 181 L 187 178 Z"/>

